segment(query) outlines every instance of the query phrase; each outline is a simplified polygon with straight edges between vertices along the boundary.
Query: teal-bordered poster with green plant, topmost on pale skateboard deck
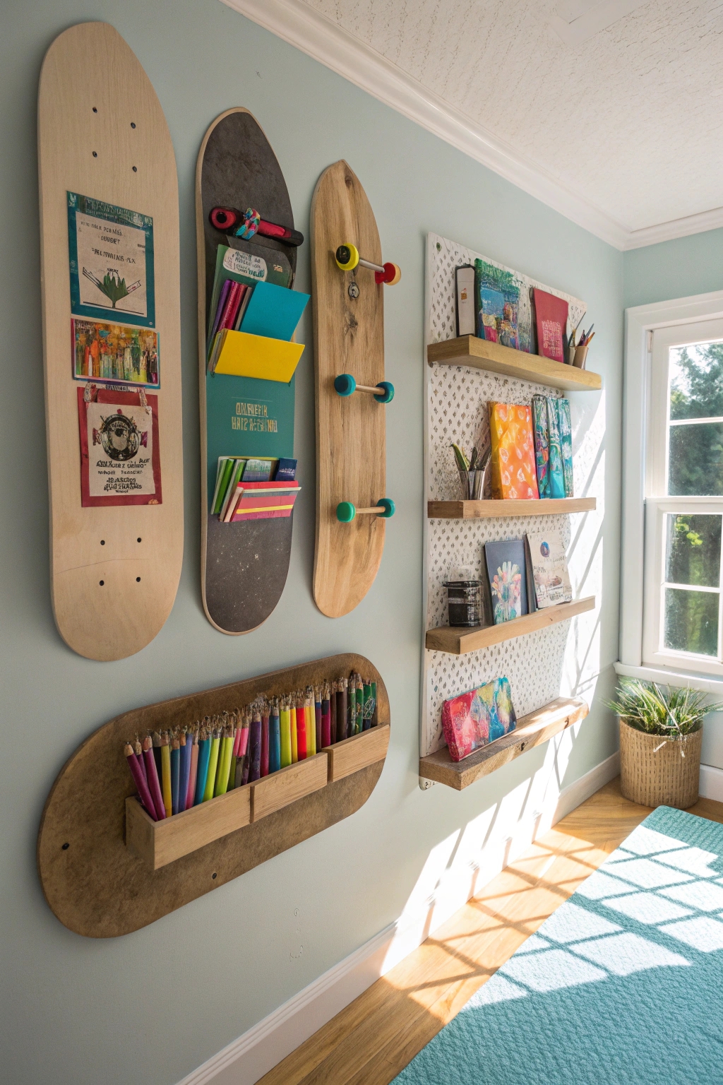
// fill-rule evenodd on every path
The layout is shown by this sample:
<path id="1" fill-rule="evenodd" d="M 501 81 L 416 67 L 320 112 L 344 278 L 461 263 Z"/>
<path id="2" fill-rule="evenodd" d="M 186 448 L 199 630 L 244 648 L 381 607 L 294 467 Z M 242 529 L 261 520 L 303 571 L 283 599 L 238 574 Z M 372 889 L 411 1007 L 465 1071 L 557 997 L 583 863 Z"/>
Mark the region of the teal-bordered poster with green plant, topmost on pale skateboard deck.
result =
<path id="1" fill-rule="evenodd" d="M 153 328 L 153 219 L 67 193 L 70 311 L 75 317 Z"/>

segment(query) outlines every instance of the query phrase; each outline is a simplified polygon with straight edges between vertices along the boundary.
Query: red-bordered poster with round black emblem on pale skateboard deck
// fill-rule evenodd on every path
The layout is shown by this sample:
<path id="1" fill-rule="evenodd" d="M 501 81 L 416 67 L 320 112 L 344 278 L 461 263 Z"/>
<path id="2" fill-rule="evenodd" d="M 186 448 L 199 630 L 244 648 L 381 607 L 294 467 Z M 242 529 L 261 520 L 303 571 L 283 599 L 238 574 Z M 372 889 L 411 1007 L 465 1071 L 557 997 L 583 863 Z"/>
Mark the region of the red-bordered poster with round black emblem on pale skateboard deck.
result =
<path id="1" fill-rule="evenodd" d="M 162 503 L 158 396 L 79 387 L 78 422 L 83 508 Z"/>

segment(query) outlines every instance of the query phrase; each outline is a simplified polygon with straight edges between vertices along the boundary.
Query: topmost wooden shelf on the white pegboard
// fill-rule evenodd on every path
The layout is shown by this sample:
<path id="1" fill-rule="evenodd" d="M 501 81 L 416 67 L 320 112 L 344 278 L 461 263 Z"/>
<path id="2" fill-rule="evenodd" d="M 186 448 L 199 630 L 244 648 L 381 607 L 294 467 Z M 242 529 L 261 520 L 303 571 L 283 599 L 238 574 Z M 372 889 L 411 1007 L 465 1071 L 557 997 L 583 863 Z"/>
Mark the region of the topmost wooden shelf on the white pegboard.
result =
<path id="1" fill-rule="evenodd" d="M 551 388 L 568 392 L 597 392 L 603 387 L 599 373 L 574 366 L 563 366 L 539 354 L 526 354 L 500 343 L 488 343 L 476 335 L 460 335 L 454 340 L 429 343 L 427 361 L 430 366 L 473 366 L 492 373 L 516 376 L 520 381 L 546 384 Z"/>

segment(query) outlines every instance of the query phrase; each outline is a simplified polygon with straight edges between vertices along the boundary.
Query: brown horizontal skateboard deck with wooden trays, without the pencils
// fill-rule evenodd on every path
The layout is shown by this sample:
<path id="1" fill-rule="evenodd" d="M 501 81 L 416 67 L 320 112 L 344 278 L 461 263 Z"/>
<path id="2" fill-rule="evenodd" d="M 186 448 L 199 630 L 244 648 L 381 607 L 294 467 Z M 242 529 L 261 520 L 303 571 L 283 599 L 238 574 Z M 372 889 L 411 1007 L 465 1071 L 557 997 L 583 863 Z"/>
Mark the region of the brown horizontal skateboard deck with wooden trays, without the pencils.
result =
<path id="1" fill-rule="evenodd" d="M 122 755 L 129 737 L 192 725 L 261 694 L 279 697 L 352 672 L 376 682 L 366 730 L 330 745 L 322 739 L 306 760 L 159 821 L 141 806 Z M 384 680 L 356 654 L 124 713 L 79 746 L 48 796 L 37 848 L 46 901 L 65 927 L 88 937 L 139 930 L 349 817 L 374 790 L 388 743 Z"/>

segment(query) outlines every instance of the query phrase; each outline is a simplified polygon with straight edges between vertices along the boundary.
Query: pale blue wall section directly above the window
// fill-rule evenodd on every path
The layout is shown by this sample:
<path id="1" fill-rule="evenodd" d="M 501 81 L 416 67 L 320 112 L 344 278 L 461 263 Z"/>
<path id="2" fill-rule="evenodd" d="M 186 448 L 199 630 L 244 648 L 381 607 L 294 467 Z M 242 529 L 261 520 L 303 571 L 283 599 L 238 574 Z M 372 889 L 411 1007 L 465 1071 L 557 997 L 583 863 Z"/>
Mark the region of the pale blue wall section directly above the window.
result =
<path id="1" fill-rule="evenodd" d="M 623 254 L 624 307 L 723 290 L 723 229 Z"/>

